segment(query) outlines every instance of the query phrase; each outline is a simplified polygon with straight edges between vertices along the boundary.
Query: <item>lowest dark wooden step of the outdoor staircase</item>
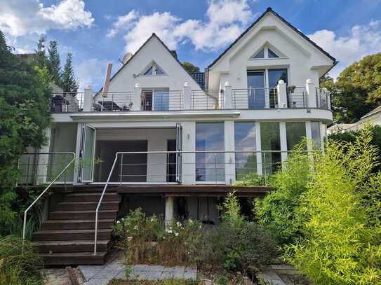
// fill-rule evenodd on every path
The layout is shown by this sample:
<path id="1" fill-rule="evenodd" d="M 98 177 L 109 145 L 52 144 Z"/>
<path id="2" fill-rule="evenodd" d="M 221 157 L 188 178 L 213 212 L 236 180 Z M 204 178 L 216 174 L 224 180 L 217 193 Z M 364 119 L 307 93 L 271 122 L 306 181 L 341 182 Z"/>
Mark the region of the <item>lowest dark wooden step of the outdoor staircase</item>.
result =
<path id="1" fill-rule="evenodd" d="M 40 257 L 44 259 L 45 265 L 100 265 L 105 264 L 107 252 L 92 251 L 76 253 L 42 253 Z"/>

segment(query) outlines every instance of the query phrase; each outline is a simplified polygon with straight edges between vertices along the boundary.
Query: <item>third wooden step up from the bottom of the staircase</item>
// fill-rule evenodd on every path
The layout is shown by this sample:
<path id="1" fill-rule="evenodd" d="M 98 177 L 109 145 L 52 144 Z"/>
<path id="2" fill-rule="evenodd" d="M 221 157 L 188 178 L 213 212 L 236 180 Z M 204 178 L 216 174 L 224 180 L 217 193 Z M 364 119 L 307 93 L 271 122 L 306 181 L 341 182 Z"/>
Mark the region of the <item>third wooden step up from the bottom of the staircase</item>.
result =
<path id="1" fill-rule="evenodd" d="M 112 229 L 98 229 L 98 239 L 111 239 Z M 94 239 L 94 230 L 39 230 L 34 232 L 34 242 L 46 240 L 86 240 Z"/>

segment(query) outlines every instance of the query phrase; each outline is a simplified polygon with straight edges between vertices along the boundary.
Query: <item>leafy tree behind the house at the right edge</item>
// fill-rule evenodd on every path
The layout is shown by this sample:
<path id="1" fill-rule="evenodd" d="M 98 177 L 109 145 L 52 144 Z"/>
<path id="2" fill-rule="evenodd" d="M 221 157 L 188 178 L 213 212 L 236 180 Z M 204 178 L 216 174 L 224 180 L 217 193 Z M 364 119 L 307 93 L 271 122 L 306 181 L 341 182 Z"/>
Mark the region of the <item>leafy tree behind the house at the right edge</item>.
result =
<path id="1" fill-rule="evenodd" d="M 337 81 L 323 78 L 331 92 L 337 123 L 354 123 L 381 104 L 381 53 L 363 57 L 344 69 Z"/>

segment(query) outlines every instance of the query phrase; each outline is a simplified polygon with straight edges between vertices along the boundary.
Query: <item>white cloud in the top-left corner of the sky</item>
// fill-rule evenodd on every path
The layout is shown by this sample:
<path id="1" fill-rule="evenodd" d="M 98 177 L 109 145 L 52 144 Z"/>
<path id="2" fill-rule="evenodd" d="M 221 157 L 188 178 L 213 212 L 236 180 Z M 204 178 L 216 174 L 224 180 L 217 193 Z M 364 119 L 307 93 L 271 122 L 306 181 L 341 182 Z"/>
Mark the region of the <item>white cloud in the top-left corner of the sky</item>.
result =
<path id="1" fill-rule="evenodd" d="M 0 29 L 9 36 L 43 34 L 48 29 L 90 27 L 94 18 L 82 0 L 61 0 L 44 7 L 40 0 L 1 1 Z"/>

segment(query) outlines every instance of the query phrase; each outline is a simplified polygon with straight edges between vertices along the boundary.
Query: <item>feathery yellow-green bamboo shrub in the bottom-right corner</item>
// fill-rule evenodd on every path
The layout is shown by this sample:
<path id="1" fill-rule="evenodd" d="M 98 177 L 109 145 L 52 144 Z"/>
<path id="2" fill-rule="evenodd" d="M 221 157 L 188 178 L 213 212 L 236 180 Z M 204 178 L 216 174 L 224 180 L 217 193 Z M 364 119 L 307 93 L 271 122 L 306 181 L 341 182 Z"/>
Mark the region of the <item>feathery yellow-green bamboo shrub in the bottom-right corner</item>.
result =
<path id="1" fill-rule="evenodd" d="M 381 283 L 381 174 L 369 129 L 351 143 L 328 141 L 302 197 L 304 236 L 285 257 L 316 284 Z"/>

